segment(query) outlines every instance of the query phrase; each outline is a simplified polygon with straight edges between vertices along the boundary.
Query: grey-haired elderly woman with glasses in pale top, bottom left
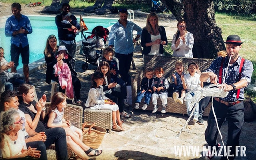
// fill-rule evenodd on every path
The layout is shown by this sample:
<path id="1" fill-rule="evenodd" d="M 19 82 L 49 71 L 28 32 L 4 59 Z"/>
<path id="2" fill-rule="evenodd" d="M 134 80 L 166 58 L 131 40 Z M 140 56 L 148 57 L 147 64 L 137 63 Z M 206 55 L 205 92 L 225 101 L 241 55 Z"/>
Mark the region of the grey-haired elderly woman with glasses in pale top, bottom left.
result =
<path id="1" fill-rule="evenodd" d="M 40 157 L 40 151 L 36 148 L 26 146 L 23 128 L 23 119 L 19 113 L 10 109 L 5 111 L 2 119 L 4 146 L 2 148 L 3 158 Z"/>

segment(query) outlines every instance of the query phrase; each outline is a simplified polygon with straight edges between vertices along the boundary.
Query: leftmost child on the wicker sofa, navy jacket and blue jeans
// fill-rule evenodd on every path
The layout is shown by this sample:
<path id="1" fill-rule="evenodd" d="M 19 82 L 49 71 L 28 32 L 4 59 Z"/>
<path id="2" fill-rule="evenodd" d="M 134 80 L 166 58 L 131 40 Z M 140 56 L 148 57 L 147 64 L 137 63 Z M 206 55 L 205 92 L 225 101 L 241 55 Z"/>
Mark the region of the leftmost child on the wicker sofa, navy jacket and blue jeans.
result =
<path id="1" fill-rule="evenodd" d="M 146 68 L 144 72 L 145 78 L 142 79 L 140 88 L 141 91 L 137 94 L 137 99 L 135 101 L 135 109 L 139 109 L 139 103 L 141 102 L 141 99 L 145 97 L 144 105 L 142 106 L 142 110 L 147 109 L 147 105 L 150 102 L 151 94 L 152 94 L 152 78 L 153 78 L 153 69 L 151 68 Z"/>

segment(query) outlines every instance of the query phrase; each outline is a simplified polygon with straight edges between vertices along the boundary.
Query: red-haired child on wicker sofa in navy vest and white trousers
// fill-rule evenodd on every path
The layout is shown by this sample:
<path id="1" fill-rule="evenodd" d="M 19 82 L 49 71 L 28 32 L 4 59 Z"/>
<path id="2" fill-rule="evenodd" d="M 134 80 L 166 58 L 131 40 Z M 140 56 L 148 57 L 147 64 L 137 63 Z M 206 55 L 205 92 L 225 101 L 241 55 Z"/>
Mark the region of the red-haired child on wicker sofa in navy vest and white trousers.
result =
<path id="1" fill-rule="evenodd" d="M 152 94 L 152 103 L 154 105 L 154 109 L 152 113 L 156 113 L 158 110 L 157 106 L 157 99 L 160 97 L 162 101 L 162 111 L 161 113 L 166 113 L 166 106 L 167 106 L 167 98 L 168 93 L 167 89 L 169 88 L 169 81 L 163 77 L 163 68 L 157 67 L 155 69 L 155 75 L 156 78 L 153 79 L 151 88 L 154 90 L 154 93 Z"/>

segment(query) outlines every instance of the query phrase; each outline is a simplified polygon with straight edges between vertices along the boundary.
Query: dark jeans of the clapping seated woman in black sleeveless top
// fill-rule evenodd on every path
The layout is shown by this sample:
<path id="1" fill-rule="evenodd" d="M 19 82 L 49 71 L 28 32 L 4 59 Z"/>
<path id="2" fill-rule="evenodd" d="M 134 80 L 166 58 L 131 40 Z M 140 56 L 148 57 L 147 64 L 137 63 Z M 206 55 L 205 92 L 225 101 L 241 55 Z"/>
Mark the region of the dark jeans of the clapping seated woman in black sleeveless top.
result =
<path id="1" fill-rule="evenodd" d="M 67 160 L 67 141 L 66 141 L 66 132 L 63 128 L 56 127 L 45 130 L 47 136 L 46 141 L 44 142 L 45 147 L 48 148 L 51 144 L 55 143 L 55 150 L 59 157 L 59 160 Z"/>

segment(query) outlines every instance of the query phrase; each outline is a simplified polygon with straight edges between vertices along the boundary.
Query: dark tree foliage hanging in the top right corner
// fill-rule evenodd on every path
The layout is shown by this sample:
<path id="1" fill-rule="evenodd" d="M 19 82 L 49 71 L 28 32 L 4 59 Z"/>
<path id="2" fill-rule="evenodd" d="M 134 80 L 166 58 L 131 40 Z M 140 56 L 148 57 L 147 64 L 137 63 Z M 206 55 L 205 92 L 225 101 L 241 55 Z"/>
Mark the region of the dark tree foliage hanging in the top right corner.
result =
<path id="1" fill-rule="evenodd" d="M 252 15 L 256 14 L 256 0 L 215 0 L 215 11 L 233 12 L 238 15 Z"/>

